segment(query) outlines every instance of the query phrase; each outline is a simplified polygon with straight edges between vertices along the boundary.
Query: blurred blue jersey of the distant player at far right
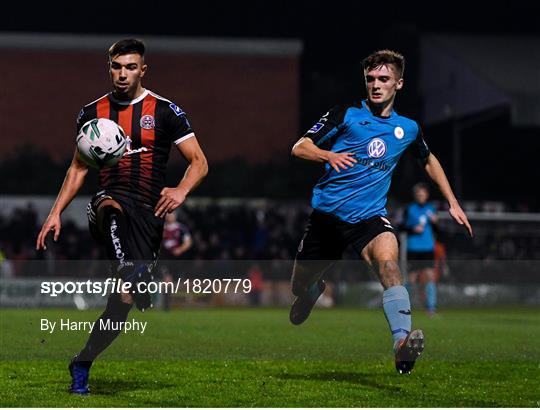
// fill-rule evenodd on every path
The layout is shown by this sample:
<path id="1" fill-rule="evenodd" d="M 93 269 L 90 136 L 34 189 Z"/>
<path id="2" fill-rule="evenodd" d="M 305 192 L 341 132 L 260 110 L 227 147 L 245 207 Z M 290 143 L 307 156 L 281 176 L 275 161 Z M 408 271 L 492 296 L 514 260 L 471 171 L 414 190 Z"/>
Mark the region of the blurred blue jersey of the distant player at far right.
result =
<path id="1" fill-rule="evenodd" d="M 424 226 L 422 233 L 410 231 L 407 236 L 407 250 L 409 252 L 433 252 L 435 239 L 430 216 L 435 215 L 435 212 L 435 207 L 431 204 L 413 203 L 407 207 L 405 226 L 409 231 L 418 225 Z"/>

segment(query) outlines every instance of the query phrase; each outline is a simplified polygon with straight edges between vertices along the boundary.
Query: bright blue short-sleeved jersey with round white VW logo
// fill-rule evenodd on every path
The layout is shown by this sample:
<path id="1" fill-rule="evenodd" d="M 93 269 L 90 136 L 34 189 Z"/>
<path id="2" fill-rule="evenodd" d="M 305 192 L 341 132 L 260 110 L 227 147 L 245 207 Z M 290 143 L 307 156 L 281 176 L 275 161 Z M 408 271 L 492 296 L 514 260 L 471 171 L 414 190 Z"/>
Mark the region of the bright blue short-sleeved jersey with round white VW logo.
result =
<path id="1" fill-rule="evenodd" d="M 387 214 L 392 172 L 409 145 L 413 144 L 419 158 L 430 153 L 415 121 L 395 111 L 389 117 L 378 117 L 365 101 L 358 106 L 334 107 L 304 137 L 322 149 L 351 152 L 358 161 L 339 173 L 327 163 L 311 201 L 314 209 L 349 223 Z"/>

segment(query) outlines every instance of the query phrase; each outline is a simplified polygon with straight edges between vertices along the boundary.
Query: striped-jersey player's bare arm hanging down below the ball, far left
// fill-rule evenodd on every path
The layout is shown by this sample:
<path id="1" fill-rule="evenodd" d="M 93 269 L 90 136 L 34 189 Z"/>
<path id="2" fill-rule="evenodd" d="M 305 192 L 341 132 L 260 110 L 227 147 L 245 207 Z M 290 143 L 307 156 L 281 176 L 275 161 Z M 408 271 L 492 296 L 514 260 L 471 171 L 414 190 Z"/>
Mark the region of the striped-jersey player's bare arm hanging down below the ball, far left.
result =
<path id="1" fill-rule="evenodd" d="M 88 166 L 79 159 L 77 150 L 75 150 L 73 160 L 71 161 L 71 165 L 67 170 L 62 188 L 60 188 L 60 192 L 56 197 L 56 201 L 54 202 L 51 212 L 43 223 L 41 231 L 37 237 L 36 250 L 47 249 L 45 239 L 50 231 L 54 231 L 54 241 L 56 242 L 58 240 L 58 237 L 60 236 L 60 229 L 62 228 L 60 215 L 64 209 L 67 208 L 73 198 L 75 198 L 77 192 L 79 192 L 79 189 L 81 189 L 87 173 Z"/>

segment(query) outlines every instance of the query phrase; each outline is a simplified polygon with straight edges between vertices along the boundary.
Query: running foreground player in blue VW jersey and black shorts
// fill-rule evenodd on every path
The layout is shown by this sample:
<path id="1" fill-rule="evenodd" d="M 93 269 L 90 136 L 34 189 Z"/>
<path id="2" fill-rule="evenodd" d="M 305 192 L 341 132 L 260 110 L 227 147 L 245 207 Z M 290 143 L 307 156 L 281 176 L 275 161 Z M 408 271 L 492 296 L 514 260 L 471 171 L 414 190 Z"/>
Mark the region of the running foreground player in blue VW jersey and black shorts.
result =
<path id="1" fill-rule="evenodd" d="M 412 330 L 409 294 L 398 266 L 398 240 L 386 218 L 392 172 L 412 146 L 449 203 L 450 215 L 472 235 L 467 216 L 454 196 L 439 161 L 418 124 L 394 111 L 403 88 L 404 58 L 377 51 L 364 61 L 367 99 L 332 108 L 298 140 L 292 155 L 324 162 L 325 173 L 313 189 L 306 232 L 293 268 L 290 312 L 303 323 L 325 289 L 322 276 L 351 245 L 376 272 L 383 288 L 383 310 L 393 338 L 396 369 L 410 373 L 424 349 L 421 330 Z"/>

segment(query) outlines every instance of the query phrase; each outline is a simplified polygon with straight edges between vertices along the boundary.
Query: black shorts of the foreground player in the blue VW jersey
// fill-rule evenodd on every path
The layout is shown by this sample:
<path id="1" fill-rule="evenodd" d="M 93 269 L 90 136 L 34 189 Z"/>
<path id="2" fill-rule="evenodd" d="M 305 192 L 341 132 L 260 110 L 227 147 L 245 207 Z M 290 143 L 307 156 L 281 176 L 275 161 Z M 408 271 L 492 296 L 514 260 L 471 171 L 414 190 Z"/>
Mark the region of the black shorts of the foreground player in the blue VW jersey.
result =
<path id="1" fill-rule="evenodd" d="M 374 216 L 351 224 L 333 215 L 314 210 L 298 246 L 296 259 L 340 260 L 347 246 L 351 245 L 361 253 L 373 238 L 383 232 L 392 232 L 396 235 L 390 221 L 385 217 Z"/>

